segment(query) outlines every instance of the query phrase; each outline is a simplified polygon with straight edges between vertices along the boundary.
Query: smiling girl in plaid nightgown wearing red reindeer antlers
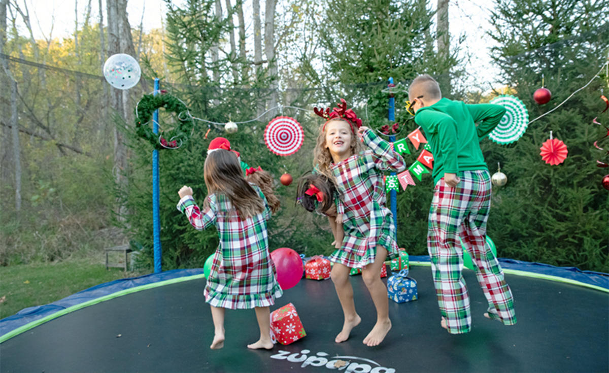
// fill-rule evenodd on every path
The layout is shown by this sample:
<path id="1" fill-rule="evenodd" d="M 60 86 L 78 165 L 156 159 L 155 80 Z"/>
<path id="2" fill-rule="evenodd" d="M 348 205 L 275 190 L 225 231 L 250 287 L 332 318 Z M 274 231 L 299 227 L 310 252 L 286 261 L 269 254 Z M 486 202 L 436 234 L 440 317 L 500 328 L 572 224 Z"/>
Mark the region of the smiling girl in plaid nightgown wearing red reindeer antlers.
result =
<path id="1" fill-rule="evenodd" d="M 362 268 L 362 278 L 376 308 L 376 324 L 364 338 L 364 344 L 377 346 L 391 329 L 389 299 L 387 287 L 381 281 L 381 266 L 385 259 L 398 255 L 393 216 L 385 207 L 381 171 L 399 172 L 406 165 L 389 143 L 362 126 L 353 110 L 347 110 L 344 99 L 340 101 L 332 112 L 329 108 L 314 108 L 326 121 L 319 130 L 313 164 L 334 182 L 344 208 L 344 238 L 330 256 L 334 262 L 331 277 L 345 316 L 343 328 L 334 341 L 346 341 L 351 329 L 361 322 L 355 310 L 349 272 L 351 268 Z"/>

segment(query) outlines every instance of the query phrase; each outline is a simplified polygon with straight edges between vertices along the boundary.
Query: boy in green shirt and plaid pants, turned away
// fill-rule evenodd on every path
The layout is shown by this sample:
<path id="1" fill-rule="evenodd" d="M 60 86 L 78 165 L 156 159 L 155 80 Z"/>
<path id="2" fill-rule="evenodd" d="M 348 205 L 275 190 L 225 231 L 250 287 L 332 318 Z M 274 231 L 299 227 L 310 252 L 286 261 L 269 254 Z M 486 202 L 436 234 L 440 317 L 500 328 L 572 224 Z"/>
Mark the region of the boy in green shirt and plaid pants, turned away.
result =
<path id="1" fill-rule="evenodd" d="M 505 325 L 515 324 L 512 292 L 495 254 L 486 245 L 491 182 L 479 145 L 499 124 L 505 108 L 466 105 L 442 98 L 440 86 L 426 74 L 412 81 L 408 96 L 415 122 L 426 133 L 434 155 L 435 189 L 429 210 L 428 250 L 442 313 L 440 325 L 451 334 L 471 330 L 459 238 L 472 258 L 488 300 L 484 316 Z"/>

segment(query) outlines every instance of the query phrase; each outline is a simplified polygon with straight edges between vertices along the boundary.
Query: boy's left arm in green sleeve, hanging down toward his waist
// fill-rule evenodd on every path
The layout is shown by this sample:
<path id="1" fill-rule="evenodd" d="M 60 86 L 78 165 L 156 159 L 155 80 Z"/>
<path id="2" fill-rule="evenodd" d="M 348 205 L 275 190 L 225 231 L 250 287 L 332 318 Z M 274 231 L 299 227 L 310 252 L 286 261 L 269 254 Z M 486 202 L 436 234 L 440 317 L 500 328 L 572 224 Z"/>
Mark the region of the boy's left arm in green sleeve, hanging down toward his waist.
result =
<path id="1" fill-rule="evenodd" d="M 421 110 L 415 122 L 429 134 L 436 134 L 439 152 L 444 157 L 445 174 L 459 172 L 457 165 L 457 123 L 451 116 L 433 110 Z M 435 156 L 435 154 L 434 154 Z M 454 185 L 451 185 L 454 186 Z"/>

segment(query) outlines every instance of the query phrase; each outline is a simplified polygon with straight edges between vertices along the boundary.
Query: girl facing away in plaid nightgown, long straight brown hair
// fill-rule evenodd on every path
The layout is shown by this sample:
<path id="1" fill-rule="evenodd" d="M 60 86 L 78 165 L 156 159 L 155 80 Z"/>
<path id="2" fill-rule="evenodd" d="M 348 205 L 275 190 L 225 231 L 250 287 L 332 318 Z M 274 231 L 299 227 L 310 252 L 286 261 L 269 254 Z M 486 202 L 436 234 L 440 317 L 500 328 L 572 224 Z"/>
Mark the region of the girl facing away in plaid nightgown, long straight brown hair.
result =
<path id="1" fill-rule="evenodd" d="M 237 157 L 230 151 L 219 149 L 209 154 L 204 174 L 209 194 L 203 211 L 188 186 L 178 192 L 177 207 L 193 227 L 202 230 L 214 226 L 220 236 L 205 285 L 205 301 L 211 306 L 214 321 L 214 340 L 209 347 L 224 347 L 225 308 L 255 308 L 260 339 L 247 347 L 272 349 L 269 306 L 282 291 L 269 254 L 266 221 L 271 209 L 261 189 L 244 179 Z"/>

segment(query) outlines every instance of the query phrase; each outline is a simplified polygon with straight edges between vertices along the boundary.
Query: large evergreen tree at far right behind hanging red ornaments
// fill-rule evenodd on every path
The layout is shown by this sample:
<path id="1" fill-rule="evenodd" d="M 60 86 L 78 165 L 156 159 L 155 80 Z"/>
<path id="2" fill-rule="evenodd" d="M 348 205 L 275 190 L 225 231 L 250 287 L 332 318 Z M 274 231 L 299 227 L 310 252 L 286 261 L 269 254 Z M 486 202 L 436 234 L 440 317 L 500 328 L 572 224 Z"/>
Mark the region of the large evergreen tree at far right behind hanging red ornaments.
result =
<path id="1" fill-rule="evenodd" d="M 604 129 L 591 124 L 604 103 L 609 51 L 609 1 L 496 0 L 490 33 L 498 46 L 493 59 L 504 83 L 526 104 L 529 124 L 516 143 L 483 142 L 491 173 L 498 162 L 507 185 L 495 189 L 488 235 L 499 256 L 607 272 L 609 219 L 607 191 L 600 186 L 606 173 L 596 167 L 593 147 Z M 552 100 L 538 105 L 532 95 L 544 83 Z M 590 85 L 577 92 L 579 88 Z M 607 113 L 599 118 L 609 123 Z M 568 157 L 557 166 L 541 160 L 541 144 L 553 137 L 568 146 Z"/>

